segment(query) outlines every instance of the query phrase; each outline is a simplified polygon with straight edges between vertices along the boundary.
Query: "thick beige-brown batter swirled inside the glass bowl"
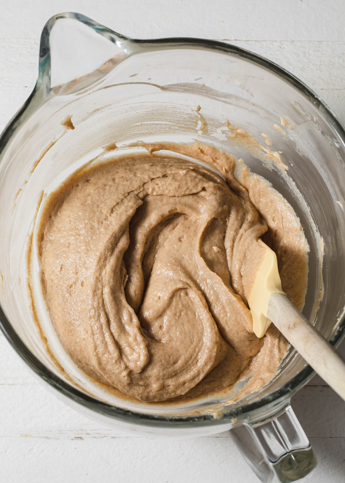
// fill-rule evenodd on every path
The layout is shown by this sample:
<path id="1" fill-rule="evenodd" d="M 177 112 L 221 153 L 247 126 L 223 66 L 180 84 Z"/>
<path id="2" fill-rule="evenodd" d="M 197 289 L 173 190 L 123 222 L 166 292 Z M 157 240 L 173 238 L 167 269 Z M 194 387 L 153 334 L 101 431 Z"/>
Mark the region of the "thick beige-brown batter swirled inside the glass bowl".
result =
<path id="1" fill-rule="evenodd" d="M 277 254 L 301 309 L 308 244 L 288 202 L 235 159 L 204 144 L 79 171 L 47 201 L 42 284 L 58 337 L 96 380 L 143 401 L 210 396 L 253 372 L 267 384 L 287 351 L 271 325 L 258 339 L 246 297 L 258 238 Z M 214 166 L 224 180 L 169 149 Z"/>

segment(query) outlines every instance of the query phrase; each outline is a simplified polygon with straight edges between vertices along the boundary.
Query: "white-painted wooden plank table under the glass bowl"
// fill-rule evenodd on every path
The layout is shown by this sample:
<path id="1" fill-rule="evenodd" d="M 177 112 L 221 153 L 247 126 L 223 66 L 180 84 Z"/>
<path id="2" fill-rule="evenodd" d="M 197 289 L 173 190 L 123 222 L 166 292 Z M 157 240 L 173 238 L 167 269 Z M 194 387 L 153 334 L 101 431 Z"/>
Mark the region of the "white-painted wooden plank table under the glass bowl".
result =
<path id="1" fill-rule="evenodd" d="M 0 0 L 0 131 L 35 84 L 44 23 L 65 11 L 132 37 L 204 37 L 252 50 L 300 77 L 345 124 L 344 0 Z M 315 377 L 292 406 L 319 461 L 304 481 L 343 483 L 345 403 Z M 0 334 L 0 482 L 48 481 L 259 480 L 224 434 L 123 436 L 86 419 L 47 392 Z"/>

